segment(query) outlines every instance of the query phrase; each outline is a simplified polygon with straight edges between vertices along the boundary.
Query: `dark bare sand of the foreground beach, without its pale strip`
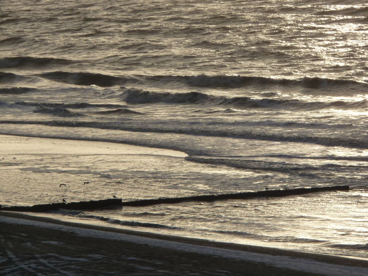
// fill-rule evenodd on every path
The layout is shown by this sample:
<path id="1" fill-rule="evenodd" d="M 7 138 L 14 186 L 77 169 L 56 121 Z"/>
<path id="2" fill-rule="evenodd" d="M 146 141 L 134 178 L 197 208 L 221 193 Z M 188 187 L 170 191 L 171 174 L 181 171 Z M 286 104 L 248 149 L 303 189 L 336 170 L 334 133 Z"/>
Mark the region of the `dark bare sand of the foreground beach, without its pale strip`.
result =
<path id="1" fill-rule="evenodd" d="M 0 212 L 0 216 L 73 226 L 78 227 L 77 231 L 93 229 L 368 268 L 368 263 L 364 260 L 61 222 L 15 212 Z M 185 252 L 109 238 L 81 236 L 77 231 L 0 222 L 0 275 L 316 275 L 270 266 L 262 262 Z"/>

